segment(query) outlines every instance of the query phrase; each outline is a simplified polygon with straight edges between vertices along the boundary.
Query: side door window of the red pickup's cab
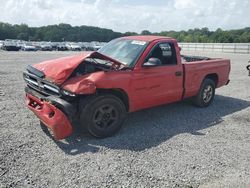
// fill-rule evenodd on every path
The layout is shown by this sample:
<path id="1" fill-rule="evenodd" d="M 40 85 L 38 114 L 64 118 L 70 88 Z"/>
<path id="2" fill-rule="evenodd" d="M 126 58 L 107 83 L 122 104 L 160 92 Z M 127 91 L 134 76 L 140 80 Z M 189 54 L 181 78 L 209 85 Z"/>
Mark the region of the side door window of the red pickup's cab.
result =
<path id="1" fill-rule="evenodd" d="M 176 65 L 177 58 L 176 58 L 174 44 L 172 43 L 157 44 L 150 52 L 149 56 L 146 58 L 146 61 L 148 61 L 150 58 L 158 58 L 159 60 L 161 60 L 163 66 Z"/>

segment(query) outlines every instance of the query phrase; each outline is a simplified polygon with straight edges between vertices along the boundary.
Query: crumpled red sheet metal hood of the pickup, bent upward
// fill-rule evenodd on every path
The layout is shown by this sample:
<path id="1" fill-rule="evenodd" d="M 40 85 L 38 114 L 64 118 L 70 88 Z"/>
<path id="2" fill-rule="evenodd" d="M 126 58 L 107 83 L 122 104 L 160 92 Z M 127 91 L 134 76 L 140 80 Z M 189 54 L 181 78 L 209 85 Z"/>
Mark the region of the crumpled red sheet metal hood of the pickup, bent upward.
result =
<path id="1" fill-rule="evenodd" d="M 75 68 L 77 68 L 78 65 L 81 64 L 86 58 L 108 60 L 118 66 L 122 64 L 108 56 L 100 54 L 99 52 L 83 52 L 76 56 L 44 61 L 42 63 L 33 65 L 33 67 L 39 71 L 42 71 L 45 74 L 45 78 L 47 80 L 57 85 L 61 85 L 69 78 Z"/>

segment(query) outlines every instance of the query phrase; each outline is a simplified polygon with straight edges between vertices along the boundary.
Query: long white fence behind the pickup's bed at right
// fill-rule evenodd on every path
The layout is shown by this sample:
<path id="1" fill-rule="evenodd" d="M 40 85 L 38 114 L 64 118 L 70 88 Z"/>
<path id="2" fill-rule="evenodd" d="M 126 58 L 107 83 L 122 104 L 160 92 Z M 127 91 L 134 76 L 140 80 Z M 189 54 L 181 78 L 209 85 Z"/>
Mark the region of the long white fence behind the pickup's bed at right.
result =
<path id="1" fill-rule="evenodd" d="M 183 50 L 250 54 L 250 43 L 179 43 Z"/>

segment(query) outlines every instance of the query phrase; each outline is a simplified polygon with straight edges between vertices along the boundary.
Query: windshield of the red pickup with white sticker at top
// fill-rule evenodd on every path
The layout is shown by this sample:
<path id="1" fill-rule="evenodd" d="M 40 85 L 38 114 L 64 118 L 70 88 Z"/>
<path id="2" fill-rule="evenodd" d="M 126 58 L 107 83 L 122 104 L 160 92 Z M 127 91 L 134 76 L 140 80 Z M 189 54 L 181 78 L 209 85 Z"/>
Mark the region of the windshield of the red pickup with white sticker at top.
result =
<path id="1" fill-rule="evenodd" d="M 131 67 L 147 46 L 147 42 L 129 39 L 115 39 L 98 52 Z"/>

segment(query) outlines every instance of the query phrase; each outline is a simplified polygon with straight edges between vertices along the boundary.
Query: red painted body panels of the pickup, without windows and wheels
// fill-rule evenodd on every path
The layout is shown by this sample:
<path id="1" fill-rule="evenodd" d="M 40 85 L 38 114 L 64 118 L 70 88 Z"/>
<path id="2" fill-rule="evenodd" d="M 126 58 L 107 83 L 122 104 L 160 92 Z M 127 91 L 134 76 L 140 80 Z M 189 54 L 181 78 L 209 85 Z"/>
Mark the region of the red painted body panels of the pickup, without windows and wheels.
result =
<path id="1" fill-rule="evenodd" d="M 68 79 L 74 69 L 87 57 L 99 57 L 114 62 L 115 66 L 121 66 L 118 61 L 99 54 L 98 52 L 84 52 L 80 55 L 51 60 L 35 65 L 34 67 L 43 71 L 46 79 L 53 81 L 58 86 L 75 94 L 94 94 L 98 89 L 119 89 L 128 96 L 129 112 L 181 101 L 185 98 L 197 95 L 201 83 L 207 75 L 216 74 L 218 77 L 217 88 L 226 85 L 229 80 L 230 61 L 227 59 L 212 59 L 208 61 L 196 61 L 182 63 L 180 49 L 177 41 L 167 37 L 156 36 L 134 36 L 126 37 L 132 40 L 149 42 L 149 45 L 137 60 L 133 70 L 95 72 L 80 77 Z M 151 49 L 159 42 L 170 42 L 174 44 L 177 65 L 143 67 L 145 58 Z M 182 75 L 177 77 L 176 72 Z M 30 96 L 27 96 L 29 98 Z M 44 104 L 45 106 L 51 106 Z M 58 138 L 69 135 L 71 130 L 67 118 L 58 112 L 58 119 L 50 122 L 44 111 L 36 111 L 29 108 L 46 125 L 52 128 Z M 55 109 L 54 109 L 55 110 Z M 60 128 L 55 128 L 57 122 Z M 60 133 L 59 133 L 60 132 Z"/>

